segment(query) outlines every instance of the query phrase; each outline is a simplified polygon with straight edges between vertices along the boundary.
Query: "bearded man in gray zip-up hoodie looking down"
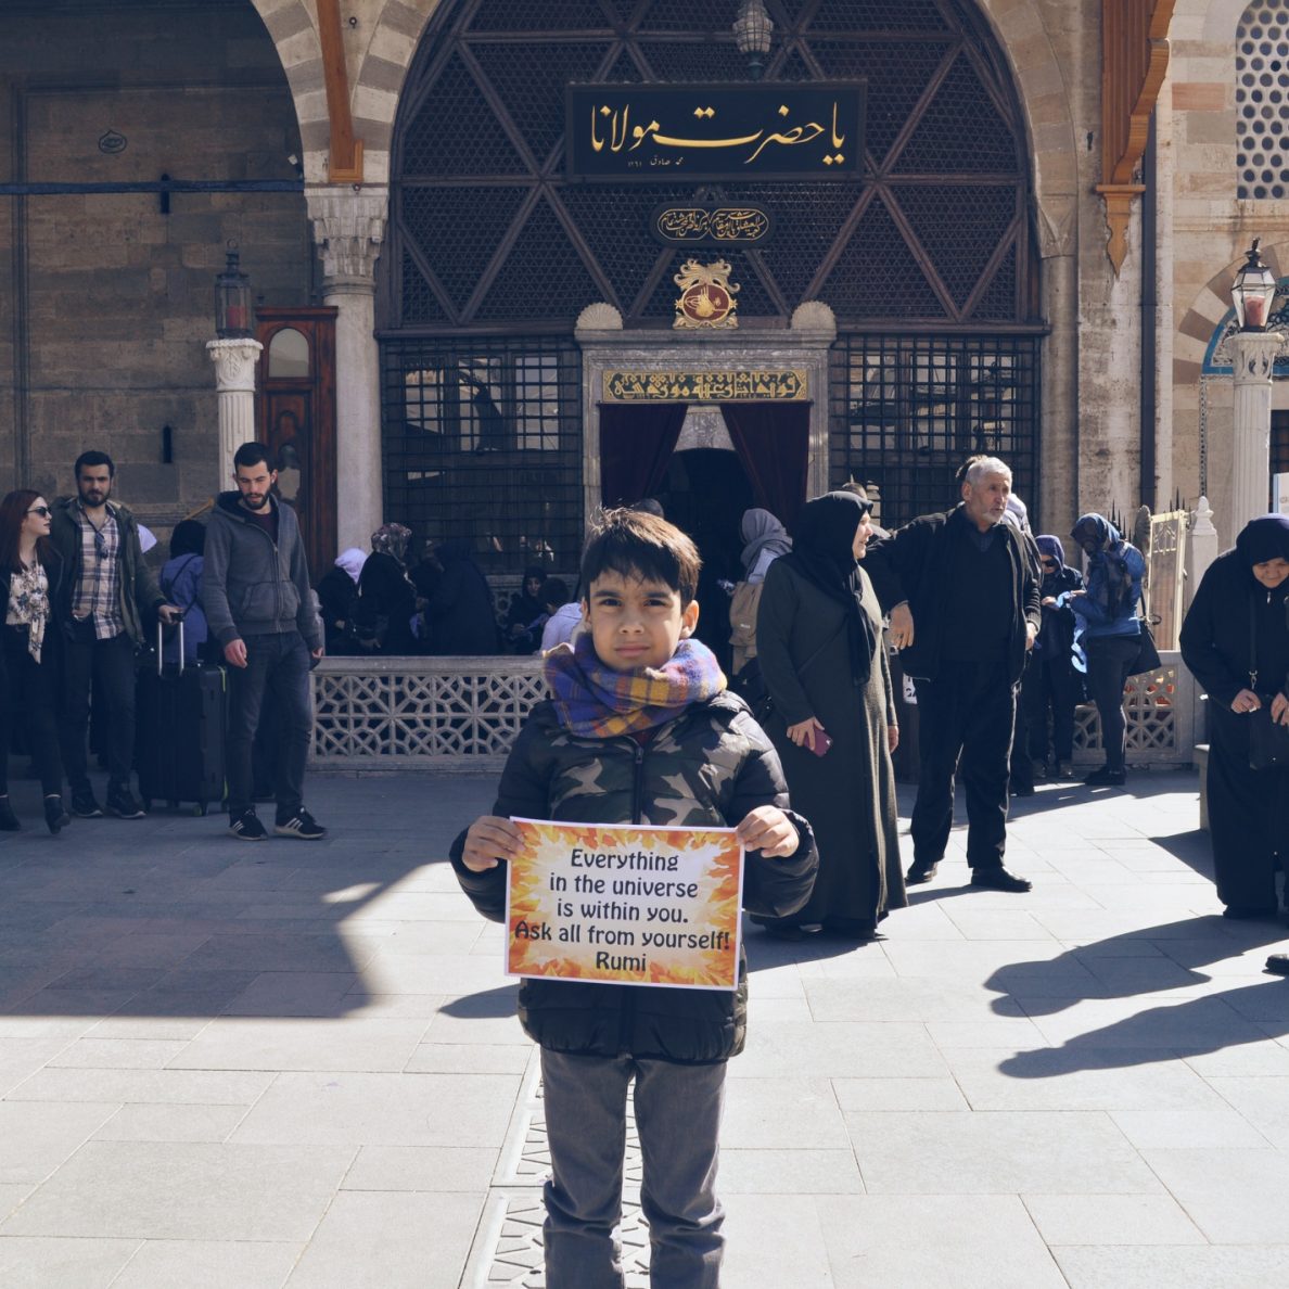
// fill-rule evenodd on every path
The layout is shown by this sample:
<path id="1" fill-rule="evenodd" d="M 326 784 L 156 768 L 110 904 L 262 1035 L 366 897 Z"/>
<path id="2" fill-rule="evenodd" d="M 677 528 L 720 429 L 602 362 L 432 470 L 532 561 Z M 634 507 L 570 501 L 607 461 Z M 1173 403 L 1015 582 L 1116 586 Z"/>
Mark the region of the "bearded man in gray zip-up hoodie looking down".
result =
<path id="1" fill-rule="evenodd" d="M 273 831 L 317 840 L 326 829 L 304 808 L 304 764 L 313 732 L 311 655 L 322 656 L 322 624 L 300 526 L 273 496 L 277 470 L 263 443 L 237 449 L 233 478 L 237 490 L 220 492 L 210 517 L 201 577 L 210 637 L 229 665 L 228 831 L 244 842 L 268 837 L 251 788 L 251 745 L 267 691 L 282 722 Z"/>

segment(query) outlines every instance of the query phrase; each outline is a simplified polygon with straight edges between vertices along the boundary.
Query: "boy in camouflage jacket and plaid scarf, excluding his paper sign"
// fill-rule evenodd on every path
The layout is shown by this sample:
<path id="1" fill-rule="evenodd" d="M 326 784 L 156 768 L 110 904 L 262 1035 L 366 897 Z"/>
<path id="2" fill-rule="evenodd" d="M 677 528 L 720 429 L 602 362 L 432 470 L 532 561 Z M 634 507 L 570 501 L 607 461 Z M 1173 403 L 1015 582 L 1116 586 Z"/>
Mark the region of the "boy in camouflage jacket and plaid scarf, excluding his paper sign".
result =
<path id="1" fill-rule="evenodd" d="M 505 918 L 507 870 L 523 839 L 512 817 L 596 825 L 736 829 L 744 905 L 785 916 L 809 897 L 819 857 L 788 809 L 775 750 L 692 639 L 699 553 L 665 519 L 610 510 L 583 556 L 588 626 L 547 657 L 539 704 L 507 761 L 492 815 L 452 847 L 463 889 Z M 621 1289 L 626 1092 L 650 1225 L 651 1280 L 715 1289 L 724 1217 L 715 1197 L 724 1062 L 742 1049 L 746 967 L 735 990 L 525 978 L 519 1020 L 541 1047 L 552 1178 L 548 1289 Z"/>

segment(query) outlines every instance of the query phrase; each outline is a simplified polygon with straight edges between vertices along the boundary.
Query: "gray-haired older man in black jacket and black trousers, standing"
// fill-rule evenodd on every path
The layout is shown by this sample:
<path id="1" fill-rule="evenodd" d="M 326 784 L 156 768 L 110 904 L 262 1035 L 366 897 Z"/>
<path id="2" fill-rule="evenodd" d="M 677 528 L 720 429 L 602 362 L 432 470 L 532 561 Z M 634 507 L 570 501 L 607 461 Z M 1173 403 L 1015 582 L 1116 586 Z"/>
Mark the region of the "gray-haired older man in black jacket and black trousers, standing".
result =
<path id="1" fill-rule="evenodd" d="M 958 507 L 914 519 L 871 554 L 891 641 L 918 688 L 922 767 L 910 884 L 929 882 L 944 858 L 960 761 L 972 886 L 1031 886 L 1003 867 L 1016 687 L 1042 624 L 1032 559 L 1021 534 L 1003 522 L 1011 491 L 1007 465 L 974 461 Z"/>

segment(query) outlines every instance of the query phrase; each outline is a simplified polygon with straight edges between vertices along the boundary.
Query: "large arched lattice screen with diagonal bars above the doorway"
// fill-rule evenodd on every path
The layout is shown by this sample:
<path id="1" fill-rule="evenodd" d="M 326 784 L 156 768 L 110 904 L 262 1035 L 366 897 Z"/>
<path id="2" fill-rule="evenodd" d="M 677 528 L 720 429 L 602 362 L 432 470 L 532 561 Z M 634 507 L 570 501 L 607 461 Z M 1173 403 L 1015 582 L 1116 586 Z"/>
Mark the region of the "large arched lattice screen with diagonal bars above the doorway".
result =
<path id="1" fill-rule="evenodd" d="M 761 250 L 728 251 L 740 316 L 806 299 L 848 324 L 984 330 L 1035 316 L 1025 133 L 1011 79 L 967 0 L 767 0 L 766 76 L 866 77 L 856 183 L 727 184 L 775 211 Z M 648 211 L 692 184 L 571 184 L 570 81 L 737 81 L 735 0 L 473 0 L 440 6 L 394 143 L 382 327 L 563 331 L 607 300 L 668 325 L 677 268 Z M 753 322 L 751 325 L 755 325 Z M 763 324 L 764 325 L 764 324 Z"/>

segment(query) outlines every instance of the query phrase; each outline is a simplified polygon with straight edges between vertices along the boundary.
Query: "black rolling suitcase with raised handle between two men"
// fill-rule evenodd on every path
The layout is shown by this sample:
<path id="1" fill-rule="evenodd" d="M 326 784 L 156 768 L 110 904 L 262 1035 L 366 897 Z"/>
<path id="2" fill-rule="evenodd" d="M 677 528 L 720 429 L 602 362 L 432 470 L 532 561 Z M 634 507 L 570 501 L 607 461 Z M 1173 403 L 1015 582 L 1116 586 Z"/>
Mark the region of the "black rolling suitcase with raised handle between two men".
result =
<path id="1" fill-rule="evenodd" d="M 134 761 L 143 804 L 193 802 L 200 813 L 224 799 L 227 679 L 222 666 L 166 664 L 157 624 L 157 665 L 139 673 Z"/>

